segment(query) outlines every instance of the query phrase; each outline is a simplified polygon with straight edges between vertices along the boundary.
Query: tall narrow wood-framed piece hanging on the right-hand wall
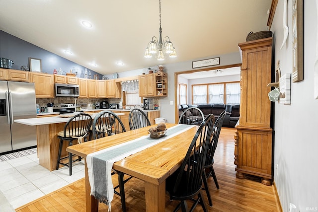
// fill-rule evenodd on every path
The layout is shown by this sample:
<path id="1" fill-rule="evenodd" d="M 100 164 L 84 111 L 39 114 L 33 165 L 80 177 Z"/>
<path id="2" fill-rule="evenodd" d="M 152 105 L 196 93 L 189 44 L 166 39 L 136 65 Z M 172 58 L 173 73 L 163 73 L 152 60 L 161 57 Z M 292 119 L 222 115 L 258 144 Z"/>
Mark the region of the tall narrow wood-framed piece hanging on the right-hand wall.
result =
<path id="1" fill-rule="evenodd" d="M 304 0 L 293 0 L 293 82 L 304 80 Z"/>

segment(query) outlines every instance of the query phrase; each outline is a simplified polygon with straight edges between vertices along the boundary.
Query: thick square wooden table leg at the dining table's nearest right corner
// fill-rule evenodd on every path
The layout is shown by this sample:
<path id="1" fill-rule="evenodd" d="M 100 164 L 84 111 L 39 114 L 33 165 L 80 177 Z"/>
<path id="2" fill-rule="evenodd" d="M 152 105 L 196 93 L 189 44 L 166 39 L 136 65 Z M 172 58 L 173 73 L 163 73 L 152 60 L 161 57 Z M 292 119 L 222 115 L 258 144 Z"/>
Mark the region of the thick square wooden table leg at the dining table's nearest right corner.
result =
<path id="1" fill-rule="evenodd" d="M 165 181 L 159 185 L 145 182 L 146 212 L 165 211 Z"/>

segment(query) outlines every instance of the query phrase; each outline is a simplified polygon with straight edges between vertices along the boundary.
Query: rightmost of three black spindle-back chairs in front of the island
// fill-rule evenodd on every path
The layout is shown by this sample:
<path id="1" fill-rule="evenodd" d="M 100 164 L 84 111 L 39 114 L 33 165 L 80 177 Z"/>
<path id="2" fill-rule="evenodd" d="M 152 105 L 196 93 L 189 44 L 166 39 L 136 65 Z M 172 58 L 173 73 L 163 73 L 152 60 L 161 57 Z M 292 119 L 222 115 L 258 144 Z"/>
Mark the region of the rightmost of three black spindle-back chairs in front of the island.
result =
<path id="1" fill-rule="evenodd" d="M 146 113 L 138 108 L 130 111 L 128 120 L 130 130 L 136 130 L 151 125 Z"/>

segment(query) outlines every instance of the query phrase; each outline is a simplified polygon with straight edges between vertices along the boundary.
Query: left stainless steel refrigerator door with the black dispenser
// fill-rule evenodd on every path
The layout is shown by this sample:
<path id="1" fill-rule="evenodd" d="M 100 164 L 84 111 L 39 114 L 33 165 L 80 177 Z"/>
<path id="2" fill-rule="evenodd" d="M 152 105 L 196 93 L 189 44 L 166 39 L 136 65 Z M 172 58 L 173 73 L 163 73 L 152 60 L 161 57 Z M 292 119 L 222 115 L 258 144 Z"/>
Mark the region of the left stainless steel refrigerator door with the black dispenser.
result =
<path id="1" fill-rule="evenodd" d="M 8 105 L 8 83 L 0 81 L 0 100 L 1 100 L 1 115 L 0 115 L 0 153 L 11 151 L 11 130 Z M 2 111 L 4 110 L 5 111 Z"/>

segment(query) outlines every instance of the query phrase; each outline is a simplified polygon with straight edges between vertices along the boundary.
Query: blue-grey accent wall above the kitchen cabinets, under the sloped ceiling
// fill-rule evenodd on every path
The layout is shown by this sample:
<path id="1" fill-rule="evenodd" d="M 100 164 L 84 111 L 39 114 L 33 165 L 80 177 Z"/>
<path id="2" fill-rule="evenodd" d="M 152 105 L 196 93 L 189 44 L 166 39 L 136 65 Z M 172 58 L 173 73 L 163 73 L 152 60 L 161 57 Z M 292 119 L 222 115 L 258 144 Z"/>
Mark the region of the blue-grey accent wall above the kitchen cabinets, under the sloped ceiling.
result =
<path id="1" fill-rule="evenodd" d="M 84 71 L 86 68 L 1 30 L 0 58 L 12 60 L 12 69 L 15 70 L 20 70 L 21 66 L 30 68 L 29 58 L 41 59 L 42 72 L 44 73 L 53 74 L 54 69 L 59 71 L 61 68 L 63 74 L 66 75 L 66 72 L 70 72 L 74 67 L 78 69 L 78 77 L 81 78 L 83 78 L 81 71 Z M 95 71 L 88 68 L 87 71 L 91 71 L 91 78 L 94 78 L 95 74 L 98 74 L 99 79 L 102 78 L 102 75 Z"/>

